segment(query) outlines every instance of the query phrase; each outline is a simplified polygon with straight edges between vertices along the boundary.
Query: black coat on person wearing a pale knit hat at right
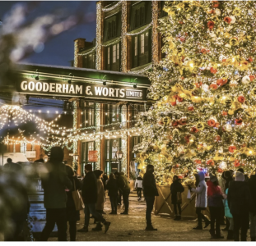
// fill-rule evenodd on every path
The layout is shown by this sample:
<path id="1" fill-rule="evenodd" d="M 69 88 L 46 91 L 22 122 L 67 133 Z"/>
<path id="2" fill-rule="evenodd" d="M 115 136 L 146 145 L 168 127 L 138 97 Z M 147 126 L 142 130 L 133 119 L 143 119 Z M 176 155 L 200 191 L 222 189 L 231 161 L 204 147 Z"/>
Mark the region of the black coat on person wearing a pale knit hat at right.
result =
<path id="1" fill-rule="evenodd" d="M 231 181 L 227 194 L 227 202 L 231 214 L 246 214 L 251 210 L 251 194 L 249 184 L 244 181 Z"/>

